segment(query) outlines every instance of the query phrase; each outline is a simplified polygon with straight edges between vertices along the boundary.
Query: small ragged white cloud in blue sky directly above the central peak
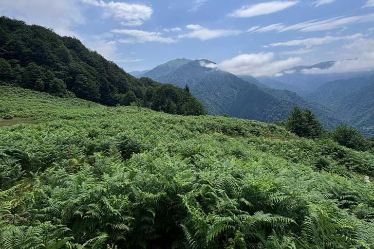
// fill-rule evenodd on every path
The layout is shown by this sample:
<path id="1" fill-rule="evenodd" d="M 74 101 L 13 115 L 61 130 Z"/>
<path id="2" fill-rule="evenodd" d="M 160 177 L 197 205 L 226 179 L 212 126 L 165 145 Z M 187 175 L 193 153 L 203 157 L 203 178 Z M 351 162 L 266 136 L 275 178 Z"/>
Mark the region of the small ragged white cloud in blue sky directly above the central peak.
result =
<path id="1" fill-rule="evenodd" d="M 199 38 L 202 41 L 213 39 L 213 38 L 218 38 L 218 37 L 223 37 L 223 36 L 236 36 L 243 31 L 241 30 L 225 30 L 225 29 L 217 29 L 217 30 L 210 30 L 207 28 L 203 28 L 200 25 L 187 25 L 187 29 L 193 30 L 190 33 L 184 34 L 184 35 L 179 35 L 178 38 Z"/>

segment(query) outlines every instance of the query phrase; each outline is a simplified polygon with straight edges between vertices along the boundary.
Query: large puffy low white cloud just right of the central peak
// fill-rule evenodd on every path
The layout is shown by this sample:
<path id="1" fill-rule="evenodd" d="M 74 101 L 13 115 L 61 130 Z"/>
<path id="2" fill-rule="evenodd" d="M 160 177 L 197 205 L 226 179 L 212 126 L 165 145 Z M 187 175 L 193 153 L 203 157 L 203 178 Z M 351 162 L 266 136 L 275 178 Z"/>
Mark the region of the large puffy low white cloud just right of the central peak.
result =
<path id="1" fill-rule="evenodd" d="M 224 60 L 218 68 L 236 75 L 279 76 L 302 61 L 301 58 L 288 58 L 276 61 L 274 53 L 241 54 L 232 59 Z"/>

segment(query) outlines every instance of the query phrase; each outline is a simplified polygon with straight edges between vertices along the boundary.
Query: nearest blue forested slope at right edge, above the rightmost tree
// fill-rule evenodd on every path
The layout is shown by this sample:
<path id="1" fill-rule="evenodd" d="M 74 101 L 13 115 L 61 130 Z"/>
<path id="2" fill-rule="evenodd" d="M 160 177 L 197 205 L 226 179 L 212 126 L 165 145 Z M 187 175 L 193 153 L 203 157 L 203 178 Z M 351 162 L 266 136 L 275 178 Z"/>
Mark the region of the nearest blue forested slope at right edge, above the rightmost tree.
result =
<path id="1" fill-rule="evenodd" d="M 331 105 L 364 136 L 374 136 L 374 84 L 356 90 Z"/>

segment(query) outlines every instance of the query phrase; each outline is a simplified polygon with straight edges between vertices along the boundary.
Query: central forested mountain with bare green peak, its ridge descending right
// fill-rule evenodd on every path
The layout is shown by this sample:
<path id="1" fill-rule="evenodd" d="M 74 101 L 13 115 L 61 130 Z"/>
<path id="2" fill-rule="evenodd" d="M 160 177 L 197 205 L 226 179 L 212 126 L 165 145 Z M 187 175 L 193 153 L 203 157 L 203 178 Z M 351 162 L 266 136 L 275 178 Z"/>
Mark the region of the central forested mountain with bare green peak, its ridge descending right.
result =
<path id="1" fill-rule="evenodd" d="M 299 96 L 286 98 L 281 94 L 276 96 L 274 91 L 260 88 L 259 85 L 266 86 L 252 76 L 242 76 L 246 79 L 243 80 L 229 72 L 205 67 L 208 64 L 214 62 L 191 61 L 153 79 L 178 87 L 188 85 L 191 93 L 202 101 L 208 112 L 213 115 L 226 113 L 238 118 L 273 122 L 274 119 L 284 120 L 295 105 L 300 105 L 300 107 L 313 107 L 312 110 L 318 112 L 328 129 L 340 123 L 340 119 L 334 113 L 324 112 L 323 107 L 317 104 L 301 100 Z M 293 93 L 289 92 L 289 95 Z"/>

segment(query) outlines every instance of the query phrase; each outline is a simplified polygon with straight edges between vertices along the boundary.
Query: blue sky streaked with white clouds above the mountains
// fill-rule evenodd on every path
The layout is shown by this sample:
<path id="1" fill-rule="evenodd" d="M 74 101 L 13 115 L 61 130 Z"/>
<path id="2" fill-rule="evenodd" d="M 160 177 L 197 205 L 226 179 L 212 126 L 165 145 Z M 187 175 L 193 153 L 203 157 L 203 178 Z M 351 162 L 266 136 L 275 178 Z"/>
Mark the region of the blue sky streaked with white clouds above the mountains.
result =
<path id="1" fill-rule="evenodd" d="M 303 72 L 374 70 L 374 0 L 0 0 L 0 16 L 75 36 L 125 71 L 177 58 L 255 77 L 331 60 Z"/>

